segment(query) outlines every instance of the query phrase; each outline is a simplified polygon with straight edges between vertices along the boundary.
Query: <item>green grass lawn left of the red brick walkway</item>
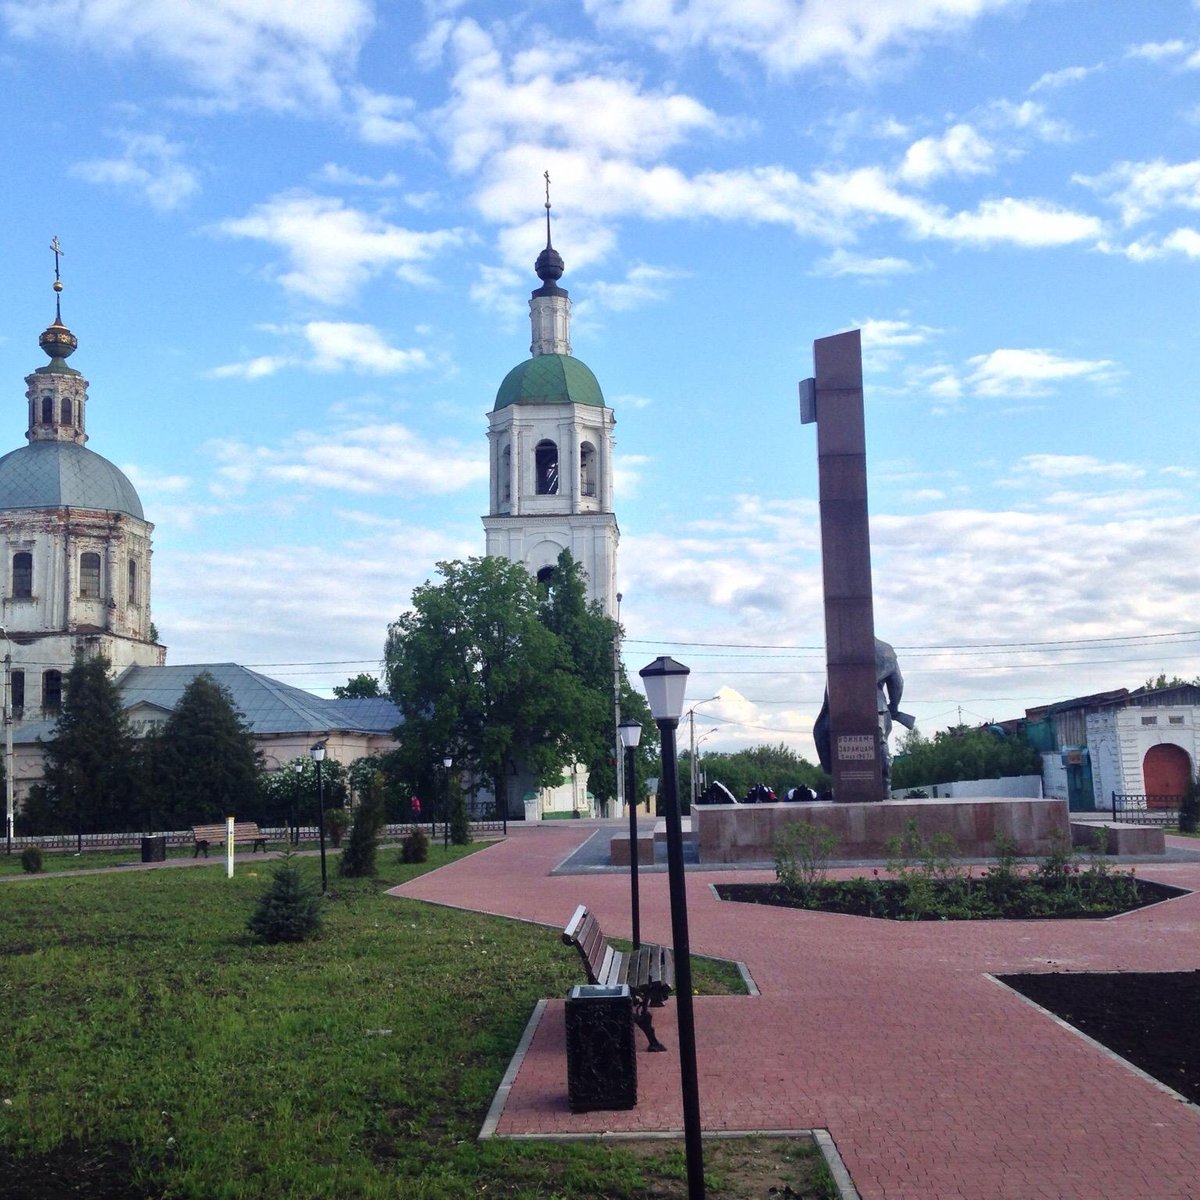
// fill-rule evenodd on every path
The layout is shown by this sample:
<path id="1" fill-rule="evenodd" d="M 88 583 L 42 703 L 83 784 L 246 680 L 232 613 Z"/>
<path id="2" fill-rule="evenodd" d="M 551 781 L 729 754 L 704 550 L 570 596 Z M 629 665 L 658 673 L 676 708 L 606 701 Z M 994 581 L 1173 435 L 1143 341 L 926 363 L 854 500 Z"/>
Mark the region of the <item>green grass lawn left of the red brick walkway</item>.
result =
<path id="1" fill-rule="evenodd" d="M 476 1142 L 534 1003 L 581 973 L 550 929 L 383 894 L 428 866 L 389 850 L 377 881 L 332 871 L 296 946 L 246 932 L 262 859 L 0 886 L 4 1194 L 678 1194 L 670 1144 Z M 706 994 L 736 979 L 694 970 Z"/>

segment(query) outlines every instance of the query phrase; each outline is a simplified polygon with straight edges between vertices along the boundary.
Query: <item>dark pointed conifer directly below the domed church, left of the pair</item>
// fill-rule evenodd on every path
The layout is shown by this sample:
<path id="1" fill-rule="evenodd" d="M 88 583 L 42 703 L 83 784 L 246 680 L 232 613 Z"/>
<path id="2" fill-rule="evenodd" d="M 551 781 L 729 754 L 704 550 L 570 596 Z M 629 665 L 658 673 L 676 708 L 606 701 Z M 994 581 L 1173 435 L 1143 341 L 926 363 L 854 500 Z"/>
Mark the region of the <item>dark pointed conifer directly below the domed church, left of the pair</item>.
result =
<path id="1" fill-rule="evenodd" d="M 108 660 L 77 658 L 54 733 L 43 744 L 43 786 L 30 796 L 24 827 L 32 833 L 82 834 L 140 826 L 132 751 Z"/>

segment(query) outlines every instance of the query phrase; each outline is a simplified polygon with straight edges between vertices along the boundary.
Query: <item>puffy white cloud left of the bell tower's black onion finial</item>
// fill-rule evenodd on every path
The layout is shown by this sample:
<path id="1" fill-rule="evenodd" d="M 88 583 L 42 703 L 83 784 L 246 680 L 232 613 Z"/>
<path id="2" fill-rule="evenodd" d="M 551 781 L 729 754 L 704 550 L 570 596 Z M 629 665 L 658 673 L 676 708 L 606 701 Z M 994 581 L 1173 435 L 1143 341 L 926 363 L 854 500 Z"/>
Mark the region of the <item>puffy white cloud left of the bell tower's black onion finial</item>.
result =
<path id="1" fill-rule="evenodd" d="M 389 270 L 409 282 L 425 282 L 425 264 L 463 240 L 460 230 L 404 229 L 340 199 L 307 192 L 276 196 L 244 217 L 222 221 L 217 230 L 278 246 L 289 263 L 277 275 L 280 284 L 326 304 L 350 300 L 368 280 Z"/>

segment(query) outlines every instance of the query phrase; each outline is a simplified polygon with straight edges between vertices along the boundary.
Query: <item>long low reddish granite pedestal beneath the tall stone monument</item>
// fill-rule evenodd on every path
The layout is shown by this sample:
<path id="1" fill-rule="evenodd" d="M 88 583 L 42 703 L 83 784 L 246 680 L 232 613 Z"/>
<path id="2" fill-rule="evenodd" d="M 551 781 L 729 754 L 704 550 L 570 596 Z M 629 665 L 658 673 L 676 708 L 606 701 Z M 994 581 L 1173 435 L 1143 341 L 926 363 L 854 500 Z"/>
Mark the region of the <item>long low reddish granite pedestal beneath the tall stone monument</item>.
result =
<path id="1" fill-rule="evenodd" d="M 995 858 L 996 836 L 1016 845 L 1016 853 L 1037 858 L 1056 841 L 1070 845 L 1066 800 L 998 799 L 877 800 L 865 804 L 698 804 L 692 809 L 700 862 L 770 863 L 775 835 L 784 826 L 808 821 L 833 832 L 830 858 L 884 862 L 888 841 L 904 836 L 916 820 L 929 840 L 949 834 L 964 858 Z"/>

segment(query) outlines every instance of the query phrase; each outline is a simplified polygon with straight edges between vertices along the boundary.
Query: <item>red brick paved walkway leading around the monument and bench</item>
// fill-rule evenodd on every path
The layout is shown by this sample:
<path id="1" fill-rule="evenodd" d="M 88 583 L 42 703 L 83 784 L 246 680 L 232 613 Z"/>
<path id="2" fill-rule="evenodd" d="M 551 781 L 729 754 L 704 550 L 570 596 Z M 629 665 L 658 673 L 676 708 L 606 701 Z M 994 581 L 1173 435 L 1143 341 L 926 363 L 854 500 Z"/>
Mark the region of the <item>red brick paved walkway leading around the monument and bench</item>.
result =
<path id="1" fill-rule="evenodd" d="M 628 937 L 628 876 L 548 874 L 590 832 L 517 828 L 396 893 L 559 928 L 586 902 Z M 1200 862 L 1138 871 L 1200 889 Z M 710 890 L 761 878 L 688 871 L 694 953 L 744 961 L 762 990 L 696 998 L 706 1129 L 826 1128 L 863 1200 L 1200 1198 L 1200 1109 L 989 978 L 1200 968 L 1200 892 L 1103 922 L 896 924 Z M 666 875 L 641 896 L 642 936 L 670 942 Z M 640 1048 L 637 1108 L 572 1114 L 552 1001 L 498 1132 L 682 1128 L 673 1003 L 655 1028 L 672 1052 Z"/>

